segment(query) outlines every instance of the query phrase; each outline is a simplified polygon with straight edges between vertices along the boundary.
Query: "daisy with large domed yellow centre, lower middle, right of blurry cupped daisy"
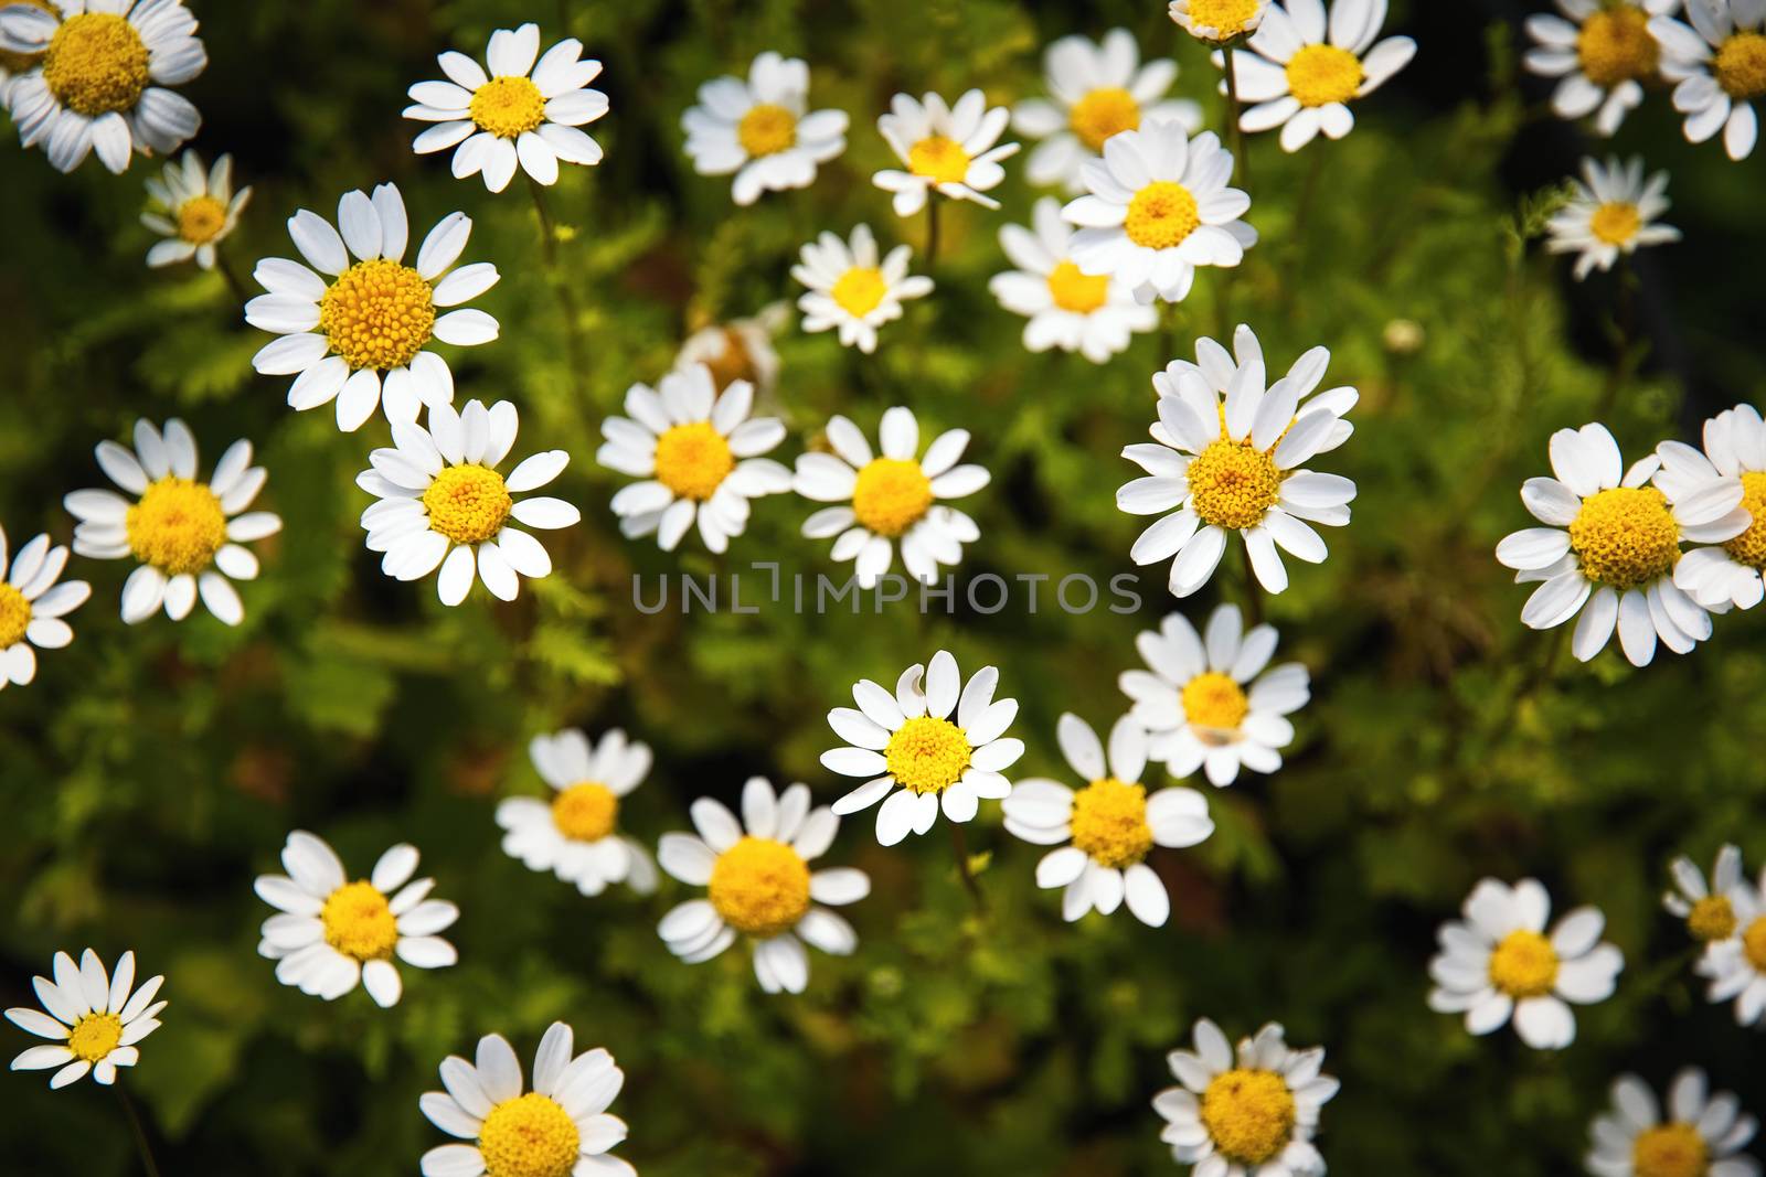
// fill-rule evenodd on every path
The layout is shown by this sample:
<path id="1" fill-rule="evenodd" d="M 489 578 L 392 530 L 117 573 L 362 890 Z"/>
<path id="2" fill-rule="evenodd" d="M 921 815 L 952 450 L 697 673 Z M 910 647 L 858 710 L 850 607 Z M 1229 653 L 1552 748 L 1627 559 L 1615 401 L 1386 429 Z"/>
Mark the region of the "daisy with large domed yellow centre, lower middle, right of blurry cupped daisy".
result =
<path id="1" fill-rule="evenodd" d="M 657 859 L 675 879 L 706 888 L 706 898 L 675 907 L 657 932 L 687 963 L 701 963 L 735 944 L 754 946 L 754 976 L 768 993 L 802 993 L 809 985 L 804 944 L 849 956 L 858 935 L 826 905 L 844 907 L 871 895 L 862 870 L 811 872 L 809 863 L 834 845 L 841 819 L 809 808 L 809 785 L 774 794 L 772 782 L 751 776 L 742 789 L 742 821 L 722 803 L 692 803 L 691 833 L 666 833 Z"/>

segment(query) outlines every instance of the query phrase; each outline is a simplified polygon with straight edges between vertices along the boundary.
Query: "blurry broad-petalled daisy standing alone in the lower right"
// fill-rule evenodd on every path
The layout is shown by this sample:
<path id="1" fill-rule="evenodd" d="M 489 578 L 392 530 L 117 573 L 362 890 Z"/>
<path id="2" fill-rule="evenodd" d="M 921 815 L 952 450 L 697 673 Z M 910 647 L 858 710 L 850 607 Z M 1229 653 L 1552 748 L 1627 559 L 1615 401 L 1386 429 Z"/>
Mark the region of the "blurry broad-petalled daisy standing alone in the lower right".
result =
<path id="1" fill-rule="evenodd" d="M 1545 935 L 1551 896 L 1535 879 L 1515 886 L 1483 879 L 1464 905 L 1466 919 L 1441 925 L 1441 953 L 1429 962 L 1436 988 L 1429 1008 L 1464 1013 L 1466 1031 L 1489 1034 L 1515 1020 L 1521 1041 L 1559 1050 L 1575 1041 L 1566 1002 L 1612 997 L 1625 956 L 1600 942 L 1605 916 L 1577 907 Z"/>

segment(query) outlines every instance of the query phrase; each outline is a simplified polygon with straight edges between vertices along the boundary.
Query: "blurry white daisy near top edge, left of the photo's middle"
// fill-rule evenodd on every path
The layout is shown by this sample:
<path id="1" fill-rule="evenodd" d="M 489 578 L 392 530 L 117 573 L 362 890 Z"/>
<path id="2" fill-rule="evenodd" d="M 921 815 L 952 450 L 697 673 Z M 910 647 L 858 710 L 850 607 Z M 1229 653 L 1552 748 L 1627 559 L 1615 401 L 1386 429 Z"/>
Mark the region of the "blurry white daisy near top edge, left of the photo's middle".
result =
<path id="1" fill-rule="evenodd" d="M 809 64 L 772 49 L 754 58 L 747 81 L 724 76 L 699 86 L 699 104 L 680 116 L 692 169 L 735 173 L 738 205 L 807 189 L 816 166 L 846 150 L 846 111 L 811 113 Z"/>

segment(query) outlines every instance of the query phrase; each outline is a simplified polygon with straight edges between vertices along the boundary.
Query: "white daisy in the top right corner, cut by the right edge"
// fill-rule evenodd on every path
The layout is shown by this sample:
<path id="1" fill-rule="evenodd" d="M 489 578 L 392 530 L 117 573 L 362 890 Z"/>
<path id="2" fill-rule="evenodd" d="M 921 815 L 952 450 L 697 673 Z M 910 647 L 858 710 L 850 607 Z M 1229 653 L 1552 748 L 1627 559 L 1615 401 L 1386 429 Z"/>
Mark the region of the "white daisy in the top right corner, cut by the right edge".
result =
<path id="1" fill-rule="evenodd" d="M 1766 97 L 1766 0 L 1687 0 L 1687 21 L 1657 16 L 1662 76 L 1674 109 L 1687 116 L 1687 141 L 1724 132 L 1729 159 L 1747 159 L 1759 138 L 1754 102 Z"/>

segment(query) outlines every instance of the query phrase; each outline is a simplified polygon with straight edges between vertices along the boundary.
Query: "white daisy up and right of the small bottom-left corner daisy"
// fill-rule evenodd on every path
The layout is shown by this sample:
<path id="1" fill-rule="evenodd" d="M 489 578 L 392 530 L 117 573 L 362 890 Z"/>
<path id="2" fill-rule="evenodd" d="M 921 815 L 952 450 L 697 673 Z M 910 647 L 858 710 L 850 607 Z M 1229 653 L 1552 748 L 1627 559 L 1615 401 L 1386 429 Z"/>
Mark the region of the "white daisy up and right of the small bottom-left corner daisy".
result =
<path id="1" fill-rule="evenodd" d="M 417 847 L 392 847 L 367 879 L 351 881 L 330 845 L 297 829 L 283 847 L 283 866 L 286 875 L 258 875 L 253 884 L 277 909 L 263 921 L 258 955 L 275 962 L 283 985 L 336 1001 L 360 981 L 376 1006 L 390 1008 L 404 988 L 394 956 L 413 969 L 459 960 L 436 935 L 459 919 L 459 907 L 429 898 L 434 879 L 411 882 Z"/>

